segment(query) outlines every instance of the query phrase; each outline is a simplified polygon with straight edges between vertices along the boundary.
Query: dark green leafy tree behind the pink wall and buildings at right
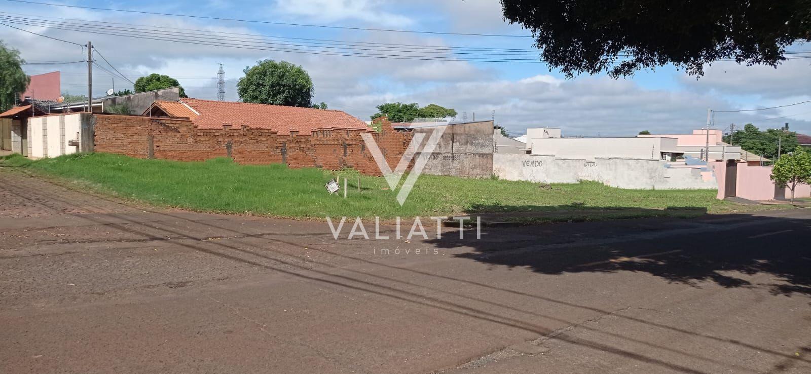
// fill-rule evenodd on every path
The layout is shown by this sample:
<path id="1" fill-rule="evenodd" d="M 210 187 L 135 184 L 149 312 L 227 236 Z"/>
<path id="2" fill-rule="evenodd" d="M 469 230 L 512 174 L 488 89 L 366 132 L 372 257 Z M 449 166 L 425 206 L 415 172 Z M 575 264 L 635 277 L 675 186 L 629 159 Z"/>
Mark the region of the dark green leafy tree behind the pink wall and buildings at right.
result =
<path id="1" fill-rule="evenodd" d="M 740 148 L 744 148 L 746 151 L 772 160 L 777 158 L 778 144 L 781 145 L 779 152 L 781 154 L 791 152 L 799 144 L 796 132 L 774 128 L 760 131 L 752 123 L 747 123 L 743 131 L 735 131 L 731 135 L 724 136 L 723 141 L 740 145 Z"/>

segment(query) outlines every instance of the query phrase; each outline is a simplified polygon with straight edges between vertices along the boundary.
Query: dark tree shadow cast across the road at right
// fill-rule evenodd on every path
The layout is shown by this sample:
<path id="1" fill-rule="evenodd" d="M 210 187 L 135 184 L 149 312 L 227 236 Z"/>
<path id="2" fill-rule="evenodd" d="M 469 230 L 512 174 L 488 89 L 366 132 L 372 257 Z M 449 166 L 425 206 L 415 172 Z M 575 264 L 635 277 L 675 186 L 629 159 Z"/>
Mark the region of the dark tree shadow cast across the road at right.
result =
<path id="1" fill-rule="evenodd" d="M 518 210 L 523 207 L 506 207 Z M 571 215 L 570 205 L 550 207 L 548 213 L 504 213 L 521 217 L 516 221 L 561 221 L 556 212 Z M 477 208 L 476 210 L 478 210 Z M 671 207 L 664 210 L 640 208 L 586 208 L 581 216 L 569 221 L 592 221 L 591 211 L 603 215 L 635 217 L 694 217 L 693 220 L 637 220 L 626 223 L 620 230 L 606 231 L 617 222 L 590 222 L 581 226 L 594 239 L 575 240 L 582 236 L 567 225 L 555 225 L 556 230 L 543 226 L 507 229 L 487 228 L 481 240 L 461 242 L 455 235 L 428 243 L 438 247 L 474 247 L 473 252 L 457 257 L 510 267 L 528 267 L 544 274 L 581 272 L 643 272 L 670 282 L 697 286 L 710 281 L 723 287 L 766 286 L 772 294 L 811 294 L 811 217 L 762 217 L 749 214 L 707 216 L 705 208 Z M 476 213 L 470 213 L 476 216 Z M 483 214 L 483 217 L 492 217 Z M 498 216 L 495 216 L 498 218 Z M 578 219 L 581 217 L 581 219 Z M 483 218 L 484 219 L 484 218 Z M 638 222 L 644 222 L 639 224 Z M 622 226 L 622 223 L 619 223 Z M 660 225 L 660 226 L 658 226 Z M 549 226 L 547 226 L 549 227 Z M 673 230 L 679 230 L 673 232 Z M 536 234 L 537 233 L 537 234 Z M 533 237 L 521 247 L 504 245 L 515 235 Z M 596 238 L 595 238 L 596 237 Z M 565 251 L 560 251 L 565 247 Z M 736 274 L 738 273 L 738 274 Z M 740 274 L 769 273 L 775 283 L 753 284 Z M 779 282 L 783 281 L 783 282 Z"/>

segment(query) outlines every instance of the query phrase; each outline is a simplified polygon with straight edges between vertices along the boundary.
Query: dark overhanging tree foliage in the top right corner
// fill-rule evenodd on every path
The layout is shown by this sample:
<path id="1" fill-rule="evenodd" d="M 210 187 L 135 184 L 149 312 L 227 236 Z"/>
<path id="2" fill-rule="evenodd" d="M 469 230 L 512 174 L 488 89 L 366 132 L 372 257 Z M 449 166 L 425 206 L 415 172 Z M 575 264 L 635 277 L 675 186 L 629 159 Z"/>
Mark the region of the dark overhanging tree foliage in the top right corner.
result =
<path id="1" fill-rule="evenodd" d="M 785 47 L 811 39 L 808 0 L 501 0 L 550 67 L 568 77 L 607 71 L 613 78 L 672 63 L 689 75 L 732 59 L 776 67 Z"/>

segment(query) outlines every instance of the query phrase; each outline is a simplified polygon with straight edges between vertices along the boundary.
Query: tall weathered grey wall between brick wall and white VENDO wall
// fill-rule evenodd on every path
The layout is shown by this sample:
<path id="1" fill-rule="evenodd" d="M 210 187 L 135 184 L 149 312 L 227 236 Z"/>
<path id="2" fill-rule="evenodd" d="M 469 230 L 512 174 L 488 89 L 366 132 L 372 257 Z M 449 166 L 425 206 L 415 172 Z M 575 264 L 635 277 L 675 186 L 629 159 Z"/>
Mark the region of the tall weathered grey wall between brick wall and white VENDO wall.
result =
<path id="1" fill-rule="evenodd" d="M 493 170 L 493 122 L 451 123 L 446 126 L 423 173 L 489 178 Z M 414 134 L 420 132 L 426 134 L 427 140 L 433 129 L 414 129 Z"/>

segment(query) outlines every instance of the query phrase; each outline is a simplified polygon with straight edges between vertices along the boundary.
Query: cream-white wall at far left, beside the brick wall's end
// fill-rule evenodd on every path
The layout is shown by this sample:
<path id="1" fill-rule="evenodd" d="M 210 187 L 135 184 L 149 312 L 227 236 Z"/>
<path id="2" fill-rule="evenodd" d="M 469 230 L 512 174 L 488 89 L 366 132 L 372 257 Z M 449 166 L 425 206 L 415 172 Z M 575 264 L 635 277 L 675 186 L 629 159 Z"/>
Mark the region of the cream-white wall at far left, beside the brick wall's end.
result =
<path id="1" fill-rule="evenodd" d="M 88 116 L 82 113 L 28 118 L 28 156 L 57 157 L 79 152 L 82 123 L 86 118 Z M 79 147 L 68 145 L 70 140 L 78 140 Z"/>

